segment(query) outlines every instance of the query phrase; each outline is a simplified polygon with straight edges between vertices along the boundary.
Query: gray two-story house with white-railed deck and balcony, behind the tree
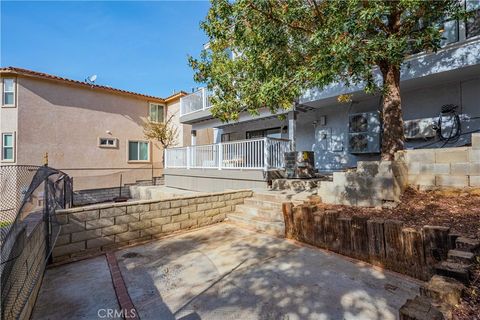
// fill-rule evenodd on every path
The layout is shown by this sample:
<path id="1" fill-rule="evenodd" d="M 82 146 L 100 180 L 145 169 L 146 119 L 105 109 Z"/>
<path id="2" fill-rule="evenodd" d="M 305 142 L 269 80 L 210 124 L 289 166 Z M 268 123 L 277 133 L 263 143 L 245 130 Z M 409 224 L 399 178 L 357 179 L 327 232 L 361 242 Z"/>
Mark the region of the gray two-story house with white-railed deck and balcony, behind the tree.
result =
<path id="1" fill-rule="evenodd" d="M 445 22 L 438 52 L 411 55 L 402 66 L 407 148 L 468 145 L 471 133 L 480 130 L 480 3 L 466 6 L 474 17 Z M 342 94 L 351 101 L 339 102 Z M 381 96 L 336 83 L 311 88 L 298 102 L 284 120 L 265 110 L 222 123 L 210 114 L 205 89 L 182 97 L 180 122 L 193 132 L 214 128 L 216 144 L 167 150 L 166 184 L 197 190 L 265 187 L 291 149 L 313 151 L 320 172 L 380 158 Z"/>

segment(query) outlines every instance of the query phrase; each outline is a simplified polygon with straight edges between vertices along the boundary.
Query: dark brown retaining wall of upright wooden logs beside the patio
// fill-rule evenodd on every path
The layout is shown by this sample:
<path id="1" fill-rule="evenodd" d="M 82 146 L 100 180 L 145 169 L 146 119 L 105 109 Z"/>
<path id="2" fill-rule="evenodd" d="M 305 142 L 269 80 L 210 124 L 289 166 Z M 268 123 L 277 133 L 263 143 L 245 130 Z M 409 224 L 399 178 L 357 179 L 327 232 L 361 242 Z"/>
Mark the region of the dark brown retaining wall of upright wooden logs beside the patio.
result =
<path id="1" fill-rule="evenodd" d="M 335 210 L 311 205 L 284 203 L 283 214 L 287 238 L 421 280 L 428 280 L 433 267 L 447 259 L 458 237 L 446 227 L 424 226 L 418 231 L 401 221 L 344 218 Z"/>

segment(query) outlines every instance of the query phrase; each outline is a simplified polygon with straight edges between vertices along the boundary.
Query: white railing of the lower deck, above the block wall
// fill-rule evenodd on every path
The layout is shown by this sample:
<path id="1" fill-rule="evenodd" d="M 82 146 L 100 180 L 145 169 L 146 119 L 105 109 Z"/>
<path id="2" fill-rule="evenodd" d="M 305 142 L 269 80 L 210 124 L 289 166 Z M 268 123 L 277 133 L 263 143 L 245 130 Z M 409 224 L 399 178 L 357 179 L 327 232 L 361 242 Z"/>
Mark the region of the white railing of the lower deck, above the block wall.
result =
<path id="1" fill-rule="evenodd" d="M 284 167 L 290 140 L 260 138 L 165 150 L 165 168 L 255 169 Z"/>

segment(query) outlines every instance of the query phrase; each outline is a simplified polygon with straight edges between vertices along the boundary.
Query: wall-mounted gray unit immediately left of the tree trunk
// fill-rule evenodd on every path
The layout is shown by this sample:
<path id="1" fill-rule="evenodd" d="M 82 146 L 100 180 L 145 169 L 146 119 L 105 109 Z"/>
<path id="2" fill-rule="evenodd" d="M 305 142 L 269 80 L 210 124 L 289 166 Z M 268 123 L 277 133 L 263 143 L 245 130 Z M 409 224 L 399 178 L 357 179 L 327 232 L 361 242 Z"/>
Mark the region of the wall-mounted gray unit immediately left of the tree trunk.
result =
<path id="1" fill-rule="evenodd" d="M 348 148 L 352 154 L 380 152 L 380 117 L 378 112 L 349 116 Z"/>

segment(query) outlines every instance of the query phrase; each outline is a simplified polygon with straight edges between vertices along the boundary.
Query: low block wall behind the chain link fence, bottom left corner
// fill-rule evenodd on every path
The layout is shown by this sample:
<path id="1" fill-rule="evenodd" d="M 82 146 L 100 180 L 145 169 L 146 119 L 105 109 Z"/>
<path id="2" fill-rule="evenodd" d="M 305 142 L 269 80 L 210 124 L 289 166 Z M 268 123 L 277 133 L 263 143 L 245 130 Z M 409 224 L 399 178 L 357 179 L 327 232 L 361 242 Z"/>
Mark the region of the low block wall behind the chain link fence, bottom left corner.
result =
<path id="1" fill-rule="evenodd" d="M 32 219 L 33 220 L 33 219 Z M 43 279 L 46 259 L 46 230 L 40 214 L 38 219 L 29 221 L 33 227 L 23 229 L 13 249 L 19 254 L 14 260 L 12 271 L 2 291 L 8 292 L 2 314 L 5 319 L 29 319 Z"/>

